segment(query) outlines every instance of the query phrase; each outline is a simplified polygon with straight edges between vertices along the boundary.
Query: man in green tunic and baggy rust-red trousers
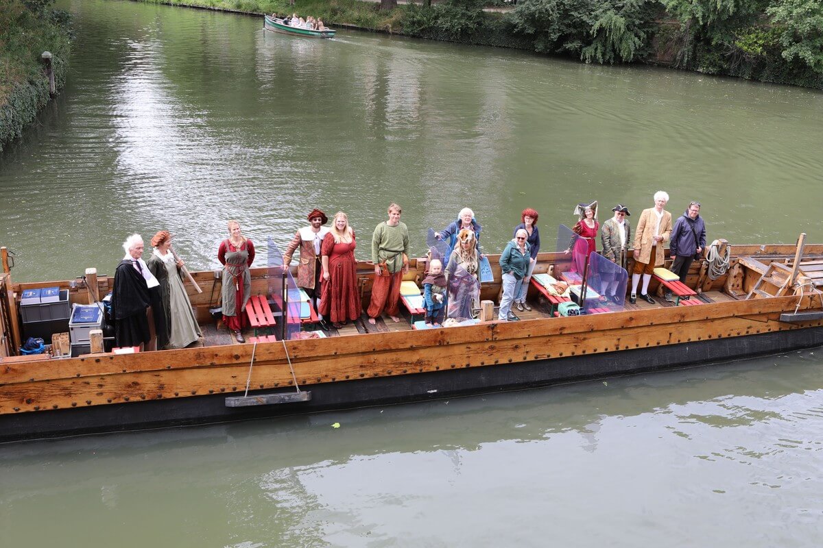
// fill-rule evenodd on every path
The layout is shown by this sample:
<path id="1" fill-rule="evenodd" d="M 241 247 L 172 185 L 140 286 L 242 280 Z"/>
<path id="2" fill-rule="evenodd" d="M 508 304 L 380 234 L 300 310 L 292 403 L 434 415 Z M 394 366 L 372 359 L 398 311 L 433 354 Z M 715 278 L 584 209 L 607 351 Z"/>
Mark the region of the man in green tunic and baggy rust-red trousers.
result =
<path id="1" fill-rule="evenodd" d="M 385 309 L 392 321 L 400 321 L 398 302 L 403 274 L 409 269 L 409 231 L 400 222 L 402 210 L 397 204 L 388 206 L 388 220 L 374 228 L 371 238 L 371 260 L 374 262 L 374 286 L 371 288 L 371 302 L 366 314 L 369 323 Z"/>

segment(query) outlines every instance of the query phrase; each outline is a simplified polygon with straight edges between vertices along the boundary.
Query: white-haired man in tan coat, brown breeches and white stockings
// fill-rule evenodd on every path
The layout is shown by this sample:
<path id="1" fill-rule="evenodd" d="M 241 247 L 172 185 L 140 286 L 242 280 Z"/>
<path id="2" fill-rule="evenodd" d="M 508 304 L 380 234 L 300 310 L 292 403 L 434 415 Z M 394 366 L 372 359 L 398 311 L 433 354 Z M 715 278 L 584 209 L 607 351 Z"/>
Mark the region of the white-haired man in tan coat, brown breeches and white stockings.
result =
<path id="1" fill-rule="evenodd" d="M 663 208 L 668 201 L 668 194 L 663 191 L 654 193 L 654 207 L 643 210 L 635 231 L 635 269 L 631 275 L 631 296 L 629 302 L 637 302 L 637 285 L 643 274 L 643 290 L 640 298 L 649 304 L 654 299 L 649 297 L 649 281 L 655 266 L 662 266 L 665 261 L 663 242 L 667 242 L 672 233 L 672 214 Z"/>

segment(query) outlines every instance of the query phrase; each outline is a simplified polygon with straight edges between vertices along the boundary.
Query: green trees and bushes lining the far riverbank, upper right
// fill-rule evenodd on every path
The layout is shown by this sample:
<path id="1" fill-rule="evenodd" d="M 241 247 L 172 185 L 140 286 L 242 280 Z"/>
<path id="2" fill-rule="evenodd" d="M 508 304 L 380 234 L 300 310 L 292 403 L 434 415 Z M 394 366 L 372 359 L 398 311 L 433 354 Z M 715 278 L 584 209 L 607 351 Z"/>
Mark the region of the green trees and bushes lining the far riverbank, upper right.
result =
<path id="1" fill-rule="evenodd" d="M 147 0 L 823 89 L 823 0 Z"/>

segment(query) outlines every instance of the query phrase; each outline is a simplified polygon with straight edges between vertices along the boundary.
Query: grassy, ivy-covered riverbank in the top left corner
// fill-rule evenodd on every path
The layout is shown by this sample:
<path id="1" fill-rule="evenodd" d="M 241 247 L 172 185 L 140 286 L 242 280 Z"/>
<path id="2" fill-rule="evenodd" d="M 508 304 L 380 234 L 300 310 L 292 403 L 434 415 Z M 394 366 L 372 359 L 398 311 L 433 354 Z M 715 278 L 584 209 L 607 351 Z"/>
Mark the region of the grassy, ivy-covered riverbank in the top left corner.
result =
<path id="1" fill-rule="evenodd" d="M 57 88 L 63 86 L 70 38 L 68 14 L 51 9 L 51 0 L 0 4 L 0 150 L 49 100 L 49 78 L 40 61 L 44 51 L 53 55 Z"/>

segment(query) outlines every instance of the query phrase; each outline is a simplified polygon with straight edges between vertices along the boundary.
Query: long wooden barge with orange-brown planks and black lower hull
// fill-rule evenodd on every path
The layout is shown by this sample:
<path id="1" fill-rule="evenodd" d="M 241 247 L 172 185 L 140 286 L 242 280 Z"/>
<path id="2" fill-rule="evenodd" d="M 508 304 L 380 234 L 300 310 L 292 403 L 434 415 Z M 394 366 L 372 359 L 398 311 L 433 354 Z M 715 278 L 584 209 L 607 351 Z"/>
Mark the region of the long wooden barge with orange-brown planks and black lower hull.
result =
<path id="1" fill-rule="evenodd" d="M 497 256 L 490 258 L 495 279 L 483 284 L 481 298 L 498 302 L 500 268 Z M 425 260 L 411 262 L 406 279 L 419 281 Z M 569 267 L 568 256 L 541 253 L 536 274 Z M 208 307 L 219 281 L 204 271 L 193 273 L 202 293 L 185 284 L 202 345 L 67 359 L 14 356 L 21 293 L 58 286 L 72 302 L 86 303 L 105 295 L 113 280 L 13 283 L 11 274 L 0 274 L 0 442 L 451 398 L 823 345 L 823 245 L 801 238 L 797 246 L 733 246 L 726 274 L 711 279 L 707 268 L 706 260 L 695 261 L 686 279 L 700 306 L 658 299 L 555 317 L 531 288 L 533 311 L 518 312 L 517 322 L 414 330 L 408 322 L 358 320 L 327 329 L 325 338 L 245 344 L 216 329 Z M 358 265 L 364 303 L 373 270 Z M 252 274 L 253 294 L 266 295 L 270 269 Z M 247 382 L 257 404 L 237 399 Z"/>

